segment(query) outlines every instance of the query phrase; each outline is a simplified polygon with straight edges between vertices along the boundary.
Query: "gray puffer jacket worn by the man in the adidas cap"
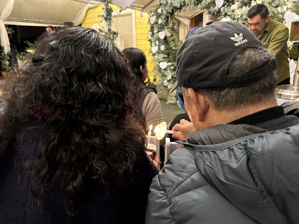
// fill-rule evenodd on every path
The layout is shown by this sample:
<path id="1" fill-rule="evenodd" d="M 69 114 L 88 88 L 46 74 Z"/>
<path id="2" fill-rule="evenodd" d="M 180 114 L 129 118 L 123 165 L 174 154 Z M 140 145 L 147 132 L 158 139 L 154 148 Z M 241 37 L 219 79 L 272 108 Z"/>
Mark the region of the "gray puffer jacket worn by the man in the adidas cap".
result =
<path id="1" fill-rule="evenodd" d="M 147 224 L 299 223 L 299 125 L 217 125 L 181 143 L 152 180 Z"/>

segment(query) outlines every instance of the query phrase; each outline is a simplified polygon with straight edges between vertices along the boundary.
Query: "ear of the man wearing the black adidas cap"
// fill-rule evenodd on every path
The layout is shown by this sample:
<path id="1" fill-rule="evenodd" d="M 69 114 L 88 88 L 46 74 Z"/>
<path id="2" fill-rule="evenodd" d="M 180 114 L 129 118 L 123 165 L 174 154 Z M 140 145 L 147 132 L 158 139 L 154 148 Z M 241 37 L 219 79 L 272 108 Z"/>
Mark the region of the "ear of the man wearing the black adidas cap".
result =
<path id="1" fill-rule="evenodd" d="M 209 109 L 209 102 L 204 95 L 201 93 L 196 93 L 191 88 L 188 88 L 188 96 L 196 108 L 198 120 L 202 121 L 205 113 Z"/>

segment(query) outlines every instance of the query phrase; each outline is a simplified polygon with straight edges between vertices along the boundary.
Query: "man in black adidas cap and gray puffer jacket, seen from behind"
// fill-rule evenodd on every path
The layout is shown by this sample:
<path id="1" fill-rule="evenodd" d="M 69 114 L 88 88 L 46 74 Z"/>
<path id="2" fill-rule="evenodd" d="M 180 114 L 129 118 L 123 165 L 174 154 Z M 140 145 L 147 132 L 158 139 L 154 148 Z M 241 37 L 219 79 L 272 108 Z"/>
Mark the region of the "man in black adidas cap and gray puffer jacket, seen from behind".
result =
<path id="1" fill-rule="evenodd" d="M 177 82 L 195 132 L 150 187 L 147 224 L 298 223 L 298 102 L 277 106 L 275 58 L 236 21 L 181 45 Z"/>

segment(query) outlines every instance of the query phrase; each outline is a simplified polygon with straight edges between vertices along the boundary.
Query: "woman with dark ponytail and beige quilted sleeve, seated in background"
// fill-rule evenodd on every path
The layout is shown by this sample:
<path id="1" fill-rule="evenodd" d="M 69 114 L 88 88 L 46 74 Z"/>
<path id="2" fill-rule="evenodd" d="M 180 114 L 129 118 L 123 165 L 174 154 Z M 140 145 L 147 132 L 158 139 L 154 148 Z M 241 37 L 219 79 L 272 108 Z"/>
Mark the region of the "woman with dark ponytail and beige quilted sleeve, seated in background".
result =
<path id="1" fill-rule="evenodd" d="M 144 80 L 147 78 L 148 70 L 147 58 L 142 50 L 135 47 L 125 48 L 123 53 L 136 77 L 135 87 L 138 90 L 138 118 L 144 123 L 146 129 L 148 129 L 150 125 L 155 128 L 158 123 L 164 121 L 164 118 L 157 96 L 156 86 L 150 82 L 144 83 Z"/>

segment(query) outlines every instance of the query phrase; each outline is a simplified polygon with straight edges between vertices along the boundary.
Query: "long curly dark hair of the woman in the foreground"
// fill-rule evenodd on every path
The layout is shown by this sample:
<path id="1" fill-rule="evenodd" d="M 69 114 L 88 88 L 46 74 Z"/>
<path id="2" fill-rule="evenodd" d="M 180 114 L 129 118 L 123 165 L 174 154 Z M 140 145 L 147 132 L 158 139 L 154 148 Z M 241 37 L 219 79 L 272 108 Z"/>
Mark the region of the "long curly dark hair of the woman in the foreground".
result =
<path id="1" fill-rule="evenodd" d="M 60 176 L 65 210 L 74 215 L 87 183 L 108 194 L 111 183 L 136 181 L 140 153 L 155 158 L 134 116 L 135 76 L 123 53 L 97 31 L 45 33 L 16 74 L 0 119 L 0 154 L 37 130 L 37 151 L 25 170 L 34 175 L 30 190 L 39 206 L 47 183 Z"/>

